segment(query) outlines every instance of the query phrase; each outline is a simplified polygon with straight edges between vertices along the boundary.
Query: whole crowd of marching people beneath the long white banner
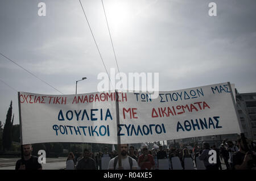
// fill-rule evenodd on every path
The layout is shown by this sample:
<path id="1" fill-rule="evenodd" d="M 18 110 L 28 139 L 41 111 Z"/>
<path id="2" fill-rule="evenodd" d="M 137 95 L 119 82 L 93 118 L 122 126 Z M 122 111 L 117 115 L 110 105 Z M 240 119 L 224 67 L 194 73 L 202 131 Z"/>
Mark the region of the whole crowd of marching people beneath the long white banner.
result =
<path id="1" fill-rule="evenodd" d="M 255 145 L 249 140 L 245 141 L 240 138 L 237 142 L 224 141 L 220 146 L 210 146 L 204 142 L 203 145 L 197 145 L 190 149 L 184 147 L 176 149 L 163 148 L 162 145 L 158 149 L 148 150 L 147 146 L 142 149 L 135 149 L 133 145 L 121 144 L 121 158 L 118 158 L 118 151 L 109 151 L 108 148 L 104 152 L 92 153 L 85 149 L 84 153 L 74 155 L 72 152 L 68 154 L 66 169 L 67 170 L 103 170 L 101 160 L 103 157 L 110 157 L 108 169 L 127 169 L 127 170 L 157 170 L 159 169 L 159 159 L 169 159 L 169 169 L 172 168 L 172 158 L 179 158 L 181 166 L 184 168 L 185 158 L 191 158 L 195 167 L 197 161 L 203 161 L 207 170 L 250 170 L 256 169 L 256 154 Z M 42 169 L 42 165 L 36 163 L 36 158 L 31 155 L 31 145 L 23 145 L 23 159 L 16 163 L 16 170 L 32 169 L 33 165 L 36 169 Z M 210 150 L 215 150 L 217 159 L 216 162 L 210 163 Z M 196 158 L 199 159 L 196 159 Z M 119 164 L 118 162 L 122 162 Z M 223 165 L 225 165 L 223 167 Z"/>

